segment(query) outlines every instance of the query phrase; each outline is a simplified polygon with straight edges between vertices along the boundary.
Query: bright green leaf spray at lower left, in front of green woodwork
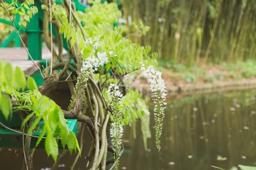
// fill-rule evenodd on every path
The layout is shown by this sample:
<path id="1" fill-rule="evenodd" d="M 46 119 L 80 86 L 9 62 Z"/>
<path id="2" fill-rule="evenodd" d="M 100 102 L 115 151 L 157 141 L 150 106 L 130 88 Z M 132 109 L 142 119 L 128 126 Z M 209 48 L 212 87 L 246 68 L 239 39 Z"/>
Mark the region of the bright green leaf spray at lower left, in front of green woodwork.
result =
<path id="1" fill-rule="evenodd" d="M 26 87 L 29 90 L 21 92 Z M 44 121 L 44 126 L 36 146 L 46 133 L 45 148 L 48 156 L 51 155 L 56 161 L 58 156 L 58 139 L 61 140 L 63 148 L 67 145 L 70 152 L 78 150 L 80 153 L 75 134 L 69 132 L 61 108 L 47 96 L 40 94 L 33 78 L 28 77 L 26 80 L 23 71 L 19 67 L 13 70 L 11 64 L 7 63 L 5 65 L 0 61 L 0 90 L 0 108 L 6 119 L 12 115 L 13 111 L 25 109 L 30 113 L 23 120 L 21 126 L 23 128 L 28 120 L 33 118 L 33 124 L 27 131 L 28 135 L 37 128 L 41 119 Z"/>

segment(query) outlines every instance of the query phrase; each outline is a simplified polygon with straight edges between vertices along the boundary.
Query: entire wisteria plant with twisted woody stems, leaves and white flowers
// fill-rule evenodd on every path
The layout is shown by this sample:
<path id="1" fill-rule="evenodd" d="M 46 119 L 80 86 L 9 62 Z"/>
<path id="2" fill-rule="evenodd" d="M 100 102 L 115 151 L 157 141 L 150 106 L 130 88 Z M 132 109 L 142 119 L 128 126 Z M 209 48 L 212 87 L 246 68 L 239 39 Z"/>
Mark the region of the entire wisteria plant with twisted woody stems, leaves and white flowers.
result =
<path id="1" fill-rule="evenodd" d="M 91 8 L 82 13 L 75 10 L 74 3 L 70 0 L 62 0 L 61 3 L 57 5 L 54 1 L 42 0 L 43 36 L 52 52 L 49 64 L 41 72 L 44 83 L 37 87 L 34 80 L 26 78 L 18 67 L 13 70 L 10 64 L 0 62 L 0 110 L 5 118 L 9 119 L 15 114 L 13 111 L 23 117 L 20 133 L 26 135 L 24 143 L 28 144 L 33 137 L 31 132 L 39 120 L 44 120 L 45 126 L 36 145 L 42 138 L 46 138 L 46 152 L 55 161 L 51 169 L 56 169 L 61 159 L 61 155 L 58 156 L 58 140 L 61 140 L 63 148 L 67 145 L 70 152 L 78 150 L 71 168 L 75 167 L 82 143 L 79 144 L 74 133 L 69 132 L 65 118 L 77 119 L 81 123 L 80 133 L 89 133 L 92 140 L 92 152 L 86 158 L 86 166 L 90 169 L 106 169 L 106 162 L 111 162 L 106 160 L 106 154 L 111 152 L 114 158 L 111 169 L 118 169 L 123 150 L 123 126 L 130 125 L 139 118 L 145 148 L 147 138 L 151 137 L 150 113 L 146 101 L 137 90 L 127 87 L 125 82 L 127 76 L 141 72 L 152 90 L 156 147 L 160 150 L 166 90 L 161 72 L 156 71 L 153 66 L 157 54 L 150 53 L 150 46 L 140 46 L 122 37 L 121 27 L 113 26 L 121 16 L 116 4 L 89 1 Z M 11 13 L 9 17 L 12 22 L 14 14 L 23 16 L 24 21 L 19 24 L 26 27 L 25 21 L 29 21 L 37 13 L 33 4 L 33 0 L 26 0 L 18 6 L 17 1 L 13 0 L 12 4 L 6 6 L 2 1 L 1 7 Z M 57 32 L 55 43 L 58 53 L 53 48 L 49 25 Z M 12 29 L 17 31 L 14 25 Z M 62 55 L 63 44 L 68 46 L 67 57 Z M 74 62 L 75 67 L 71 62 Z M 59 81 L 66 81 L 72 94 L 68 110 L 61 110 L 44 95 Z M 20 92 L 26 87 L 28 91 Z M 4 126 L 2 123 L 1 125 Z M 108 129 L 110 136 L 107 135 Z M 23 169 L 33 169 L 33 151 L 24 151 L 24 155 Z"/>

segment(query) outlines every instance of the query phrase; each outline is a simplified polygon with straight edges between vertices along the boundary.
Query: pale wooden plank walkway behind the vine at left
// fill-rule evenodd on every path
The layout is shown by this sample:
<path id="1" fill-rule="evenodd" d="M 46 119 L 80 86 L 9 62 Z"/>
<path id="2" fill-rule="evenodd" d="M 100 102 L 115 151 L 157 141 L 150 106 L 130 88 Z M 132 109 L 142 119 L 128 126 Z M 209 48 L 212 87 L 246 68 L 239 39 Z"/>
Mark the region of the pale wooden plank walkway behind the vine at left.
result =
<path id="1" fill-rule="evenodd" d="M 57 49 L 56 49 L 57 51 Z M 65 50 L 63 50 L 63 55 L 67 54 Z M 51 52 L 48 48 L 42 49 L 42 59 L 48 58 L 48 61 L 51 58 Z M 15 68 L 19 66 L 25 72 L 25 75 L 30 76 L 35 71 L 37 71 L 36 66 L 30 60 L 28 60 L 28 54 L 23 47 L 9 47 L 9 48 L 0 48 L 0 60 L 4 63 L 11 63 Z M 40 61 L 35 61 L 39 68 L 41 68 Z"/>

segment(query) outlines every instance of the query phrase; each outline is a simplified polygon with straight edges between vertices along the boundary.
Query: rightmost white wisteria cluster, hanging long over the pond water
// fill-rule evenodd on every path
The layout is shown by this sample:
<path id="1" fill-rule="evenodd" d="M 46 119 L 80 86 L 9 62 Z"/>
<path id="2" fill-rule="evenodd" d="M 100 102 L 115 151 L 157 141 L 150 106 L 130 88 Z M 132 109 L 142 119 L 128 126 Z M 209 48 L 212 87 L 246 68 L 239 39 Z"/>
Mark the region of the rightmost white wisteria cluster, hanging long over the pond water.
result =
<path id="1" fill-rule="evenodd" d="M 164 102 L 166 100 L 166 90 L 164 85 L 164 80 L 162 79 L 162 73 L 155 70 L 154 66 L 144 67 L 141 62 L 142 77 L 147 78 L 147 82 L 150 83 L 150 89 L 152 91 L 153 101 L 155 103 L 154 115 L 156 122 L 156 146 L 158 150 L 161 149 L 160 137 L 162 134 L 162 122 L 164 118 Z"/>

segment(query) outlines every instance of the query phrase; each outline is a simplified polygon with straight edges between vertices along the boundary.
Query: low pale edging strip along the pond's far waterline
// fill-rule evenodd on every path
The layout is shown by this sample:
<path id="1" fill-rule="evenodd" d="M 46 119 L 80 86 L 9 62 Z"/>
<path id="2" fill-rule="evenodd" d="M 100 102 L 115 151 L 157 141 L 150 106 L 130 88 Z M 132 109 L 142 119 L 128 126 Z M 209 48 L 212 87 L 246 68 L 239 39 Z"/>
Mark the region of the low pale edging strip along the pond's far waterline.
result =
<path id="1" fill-rule="evenodd" d="M 204 93 L 204 92 L 215 92 L 224 90 L 243 90 L 256 88 L 256 78 L 253 79 L 242 79 L 234 81 L 218 81 L 212 83 L 186 83 L 181 85 L 170 85 L 171 83 L 165 81 L 166 90 L 170 95 L 176 94 L 191 94 L 191 93 Z M 145 80 L 139 79 L 134 85 L 140 92 L 149 92 L 150 86 Z"/>

